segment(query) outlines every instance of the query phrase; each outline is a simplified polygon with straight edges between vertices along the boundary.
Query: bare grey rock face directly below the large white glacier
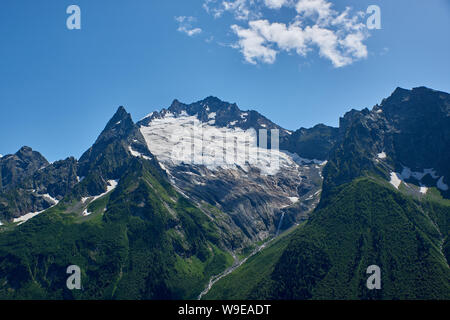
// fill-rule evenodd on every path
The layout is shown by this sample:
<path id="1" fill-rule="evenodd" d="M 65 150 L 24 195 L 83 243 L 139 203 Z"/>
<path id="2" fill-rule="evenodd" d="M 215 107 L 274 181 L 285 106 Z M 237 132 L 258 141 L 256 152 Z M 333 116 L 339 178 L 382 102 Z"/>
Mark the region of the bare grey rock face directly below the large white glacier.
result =
<path id="1" fill-rule="evenodd" d="M 250 241 L 263 240 L 307 218 L 320 198 L 321 167 L 292 166 L 276 175 L 257 168 L 210 170 L 204 166 L 165 163 L 171 182 L 196 203 L 227 213 Z"/>

